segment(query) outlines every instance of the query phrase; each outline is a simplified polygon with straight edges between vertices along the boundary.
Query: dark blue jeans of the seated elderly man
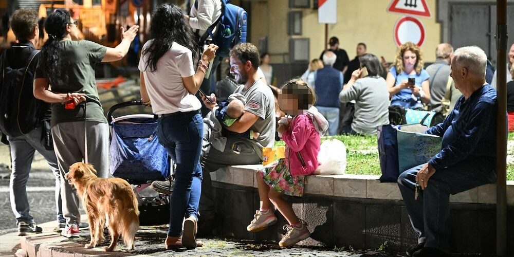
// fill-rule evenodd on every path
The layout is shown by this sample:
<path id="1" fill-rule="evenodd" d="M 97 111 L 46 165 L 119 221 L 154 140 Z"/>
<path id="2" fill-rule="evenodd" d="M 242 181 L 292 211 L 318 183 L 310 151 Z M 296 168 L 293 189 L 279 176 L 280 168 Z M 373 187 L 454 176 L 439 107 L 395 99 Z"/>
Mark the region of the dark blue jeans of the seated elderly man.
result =
<path id="1" fill-rule="evenodd" d="M 496 181 L 496 173 L 493 168 L 484 168 L 476 162 L 460 162 L 436 170 L 428 180 L 427 188 L 414 200 L 416 174 L 423 165 L 401 173 L 398 187 L 411 225 L 419 234 L 418 244 L 448 250 L 451 235 L 450 194 L 492 183 Z"/>

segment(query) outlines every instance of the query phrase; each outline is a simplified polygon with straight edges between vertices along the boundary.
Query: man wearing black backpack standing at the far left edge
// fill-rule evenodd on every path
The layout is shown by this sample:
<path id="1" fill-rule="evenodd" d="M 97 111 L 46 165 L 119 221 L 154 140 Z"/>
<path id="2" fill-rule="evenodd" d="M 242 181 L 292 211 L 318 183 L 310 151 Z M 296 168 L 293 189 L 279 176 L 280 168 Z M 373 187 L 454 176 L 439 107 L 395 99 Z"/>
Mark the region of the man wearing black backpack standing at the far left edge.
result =
<path id="1" fill-rule="evenodd" d="M 9 183 L 11 208 L 16 217 L 18 235 L 41 233 L 41 227 L 30 215 L 26 185 L 34 152 L 38 151 L 56 176 L 57 221 L 65 222 L 60 196 L 60 176 L 53 151 L 49 123 L 50 105 L 34 98 L 33 75 L 40 58 L 34 45 L 39 39 L 38 12 L 16 10 L 11 27 L 15 43 L 4 51 L 0 59 L 0 128 L 10 145 L 12 173 Z"/>

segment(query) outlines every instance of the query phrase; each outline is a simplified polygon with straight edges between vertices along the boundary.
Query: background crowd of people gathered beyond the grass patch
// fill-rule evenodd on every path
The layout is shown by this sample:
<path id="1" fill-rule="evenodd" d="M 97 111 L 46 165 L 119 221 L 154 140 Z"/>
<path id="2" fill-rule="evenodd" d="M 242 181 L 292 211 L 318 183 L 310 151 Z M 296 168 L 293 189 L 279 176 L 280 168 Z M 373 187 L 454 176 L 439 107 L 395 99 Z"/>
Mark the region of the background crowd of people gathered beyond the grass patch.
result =
<path id="1" fill-rule="evenodd" d="M 411 42 L 398 47 L 392 64 L 383 57 L 378 60 L 375 55 L 367 53 L 364 43 L 357 45 L 357 56 L 350 62 L 347 61 L 346 51 L 339 48 L 336 37 L 331 38 L 328 44 L 330 48 L 322 53 L 320 59 L 313 59 L 309 63 L 301 78 L 312 85 L 316 94 L 323 99 L 316 106 L 329 121 L 329 135 L 376 134 L 378 126 L 389 124 L 390 106 L 446 116 L 462 96 L 450 77 L 453 47 L 448 43 L 436 47 L 436 60 L 426 67 L 423 52 Z M 514 44 L 509 51 L 507 83 L 514 77 L 513 62 Z M 354 73 L 356 70 L 357 73 Z M 385 79 L 388 94 L 383 94 L 382 81 L 378 80 L 380 77 Z M 495 88 L 496 72 L 489 60 L 486 82 Z M 514 131 L 514 89 L 510 87 L 507 86 L 507 97 L 510 97 L 509 131 Z M 371 92 L 375 97 L 370 98 Z"/>

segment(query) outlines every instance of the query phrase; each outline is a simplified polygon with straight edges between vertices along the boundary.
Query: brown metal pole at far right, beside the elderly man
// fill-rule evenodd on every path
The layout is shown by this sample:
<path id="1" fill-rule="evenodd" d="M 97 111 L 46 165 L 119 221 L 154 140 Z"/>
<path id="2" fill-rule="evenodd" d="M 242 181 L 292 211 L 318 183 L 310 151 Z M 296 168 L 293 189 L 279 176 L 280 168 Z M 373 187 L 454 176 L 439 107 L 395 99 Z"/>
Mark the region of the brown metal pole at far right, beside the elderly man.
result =
<path id="1" fill-rule="evenodd" d="M 498 118 L 496 141 L 496 253 L 507 254 L 507 0 L 496 3 L 496 50 L 497 50 L 497 93 Z"/>

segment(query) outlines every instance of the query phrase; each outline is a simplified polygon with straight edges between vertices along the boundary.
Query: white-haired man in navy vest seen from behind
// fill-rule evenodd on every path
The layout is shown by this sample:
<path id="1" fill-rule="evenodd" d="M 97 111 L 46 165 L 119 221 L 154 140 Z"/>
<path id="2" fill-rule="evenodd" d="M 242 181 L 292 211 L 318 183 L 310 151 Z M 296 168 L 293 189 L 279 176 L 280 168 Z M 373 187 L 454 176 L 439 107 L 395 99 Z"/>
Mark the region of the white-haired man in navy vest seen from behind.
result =
<path id="1" fill-rule="evenodd" d="M 343 72 L 332 67 L 337 56 L 332 51 L 323 54 L 322 69 L 314 73 L 314 84 L 318 101 L 318 111 L 328 121 L 328 134 L 334 136 L 339 127 L 339 92 L 343 87 Z"/>

